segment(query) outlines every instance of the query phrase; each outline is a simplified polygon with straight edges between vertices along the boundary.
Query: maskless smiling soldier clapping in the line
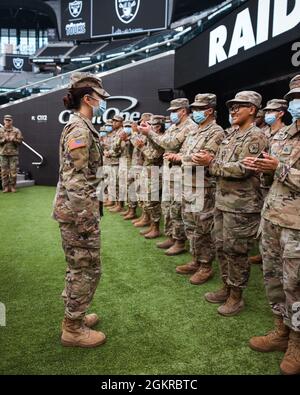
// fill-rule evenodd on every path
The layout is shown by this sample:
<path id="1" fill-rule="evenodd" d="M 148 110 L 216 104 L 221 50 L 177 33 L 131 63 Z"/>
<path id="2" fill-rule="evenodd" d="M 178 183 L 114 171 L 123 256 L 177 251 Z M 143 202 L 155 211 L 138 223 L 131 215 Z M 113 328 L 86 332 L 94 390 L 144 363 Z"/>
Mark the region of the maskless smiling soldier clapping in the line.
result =
<path id="1" fill-rule="evenodd" d="M 250 275 L 248 254 L 263 205 L 259 175 L 242 163 L 246 157 L 259 156 L 267 146 L 263 132 L 254 124 L 261 101 L 261 95 L 253 91 L 240 92 L 228 101 L 238 129 L 222 141 L 215 158 L 205 151 L 194 156 L 199 165 L 209 165 L 217 177 L 214 237 L 224 286 L 205 294 L 205 299 L 224 303 L 218 313 L 226 317 L 244 308 L 242 295 Z"/>

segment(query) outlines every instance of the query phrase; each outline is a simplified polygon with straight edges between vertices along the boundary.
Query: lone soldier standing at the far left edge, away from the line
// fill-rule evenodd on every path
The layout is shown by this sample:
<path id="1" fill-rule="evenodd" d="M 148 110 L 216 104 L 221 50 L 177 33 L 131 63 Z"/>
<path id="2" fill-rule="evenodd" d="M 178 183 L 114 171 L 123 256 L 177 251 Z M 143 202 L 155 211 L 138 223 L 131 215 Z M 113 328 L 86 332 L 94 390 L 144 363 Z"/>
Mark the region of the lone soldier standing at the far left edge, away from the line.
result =
<path id="1" fill-rule="evenodd" d="M 4 126 L 0 128 L 0 167 L 3 193 L 16 192 L 19 165 L 19 145 L 22 133 L 13 126 L 13 117 L 4 116 Z"/>

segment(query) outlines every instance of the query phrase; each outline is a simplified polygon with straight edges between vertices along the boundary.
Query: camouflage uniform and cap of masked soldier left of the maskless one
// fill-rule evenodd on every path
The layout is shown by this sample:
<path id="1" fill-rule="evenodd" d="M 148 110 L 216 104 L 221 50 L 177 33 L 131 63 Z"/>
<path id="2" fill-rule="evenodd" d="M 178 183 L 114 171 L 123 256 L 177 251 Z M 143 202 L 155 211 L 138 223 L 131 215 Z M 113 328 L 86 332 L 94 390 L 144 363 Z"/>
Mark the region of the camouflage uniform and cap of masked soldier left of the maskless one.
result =
<path id="1" fill-rule="evenodd" d="M 203 107 L 207 105 L 216 106 L 216 96 L 212 94 L 197 95 L 193 107 Z M 215 207 L 216 180 L 210 176 L 208 169 L 205 169 L 204 185 L 196 184 L 196 168 L 191 156 L 201 150 L 206 150 L 213 155 L 218 151 L 219 145 L 224 138 L 224 131 L 215 121 L 205 127 L 199 127 L 191 131 L 184 141 L 179 152 L 182 158 L 182 168 L 192 167 L 192 182 L 187 177 L 183 177 L 183 205 L 182 218 L 185 233 L 190 243 L 190 252 L 195 263 L 211 266 L 215 258 L 215 247 L 211 237 L 213 228 L 213 212 Z M 200 191 L 202 189 L 202 191 Z M 192 196 L 190 196 L 192 191 Z M 195 204 L 195 196 L 203 193 L 203 210 L 193 212 L 190 205 Z"/>

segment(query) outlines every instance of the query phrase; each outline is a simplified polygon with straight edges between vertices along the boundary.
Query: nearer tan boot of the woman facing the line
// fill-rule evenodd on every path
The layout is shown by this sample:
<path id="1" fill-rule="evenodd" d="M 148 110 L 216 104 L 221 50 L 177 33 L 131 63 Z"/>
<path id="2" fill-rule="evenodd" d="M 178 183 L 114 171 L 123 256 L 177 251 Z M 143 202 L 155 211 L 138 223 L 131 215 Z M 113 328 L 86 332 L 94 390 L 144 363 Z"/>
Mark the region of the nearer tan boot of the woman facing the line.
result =
<path id="1" fill-rule="evenodd" d="M 100 346 L 106 341 L 104 333 L 84 326 L 81 320 L 64 318 L 63 328 L 61 344 L 66 347 L 91 348 Z"/>

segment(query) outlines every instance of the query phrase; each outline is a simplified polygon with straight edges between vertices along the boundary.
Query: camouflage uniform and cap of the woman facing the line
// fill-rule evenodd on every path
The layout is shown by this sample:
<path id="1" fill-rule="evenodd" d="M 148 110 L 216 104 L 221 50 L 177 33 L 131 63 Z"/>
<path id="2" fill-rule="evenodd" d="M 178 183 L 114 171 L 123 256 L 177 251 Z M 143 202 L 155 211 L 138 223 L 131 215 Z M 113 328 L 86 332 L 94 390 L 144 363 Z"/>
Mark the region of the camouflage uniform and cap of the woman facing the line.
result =
<path id="1" fill-rule="evenodd" d="M 74 73 L 71 88 L 92 87 L 108 97 L 101 80 Z M 101 275 L 98 167 L 102 165 L 99 135 L 91 121 L 71 116 L 60 139 L 60 169 L 53 217 L 59 223 L 67 261 L 63 292 L 65 318 L 82 322 Z"/>

